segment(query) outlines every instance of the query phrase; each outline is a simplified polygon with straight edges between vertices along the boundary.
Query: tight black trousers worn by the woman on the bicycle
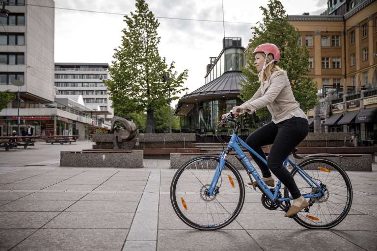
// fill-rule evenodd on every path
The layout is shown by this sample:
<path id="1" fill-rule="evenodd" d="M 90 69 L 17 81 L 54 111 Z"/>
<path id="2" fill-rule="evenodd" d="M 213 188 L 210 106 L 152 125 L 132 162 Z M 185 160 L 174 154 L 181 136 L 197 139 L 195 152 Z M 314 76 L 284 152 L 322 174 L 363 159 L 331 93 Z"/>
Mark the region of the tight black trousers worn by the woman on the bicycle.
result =
<path id="1" fill-rule="evenodd" d="M 283 167 L 283 162 L 290 152 L 295 149 L 298 143 L 306 137 L 308 132 L 308 121 L 303 118 L 293 117 L 276 125 L 275 123 L 270 122 L 250 134 L 246 139 L 247 145 L 249 145 L 254 151 L 258 152 L 258 154 L 264 159 L 266 159 L 266 155 L 261 147 L 273 144 L 269 151 L 267 166 L 257 157 L 253 158 L 260 167 L 263 177 L 270 177 L 271 173 L 269 170 L 271 170 L 271 172 L 288 188 L 293 199 L 300 197 L 301 193 L 290 172 L 287 168 Z M 253 156 L 251 152 L 250 154 Z"/>

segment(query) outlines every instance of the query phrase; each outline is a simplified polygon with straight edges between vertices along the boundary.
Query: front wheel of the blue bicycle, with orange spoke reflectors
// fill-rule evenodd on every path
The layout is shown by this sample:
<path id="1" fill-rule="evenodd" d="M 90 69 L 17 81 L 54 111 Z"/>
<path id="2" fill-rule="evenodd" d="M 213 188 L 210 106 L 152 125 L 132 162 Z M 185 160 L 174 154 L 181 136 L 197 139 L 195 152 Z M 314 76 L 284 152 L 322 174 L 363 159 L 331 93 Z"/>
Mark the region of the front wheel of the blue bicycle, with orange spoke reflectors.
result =
<path id="1" fill-rule="evenodd" d="M 217 156 L 199 156 L 177 170 L 170 186 L 170 200 L 178 217 L 188 226 L 216 230 L 230 224 L 240 213 L 245 193 L 236 168 L 225 163 L 216 183 L 215 195 L 207 190 L 219 164 Z"/>

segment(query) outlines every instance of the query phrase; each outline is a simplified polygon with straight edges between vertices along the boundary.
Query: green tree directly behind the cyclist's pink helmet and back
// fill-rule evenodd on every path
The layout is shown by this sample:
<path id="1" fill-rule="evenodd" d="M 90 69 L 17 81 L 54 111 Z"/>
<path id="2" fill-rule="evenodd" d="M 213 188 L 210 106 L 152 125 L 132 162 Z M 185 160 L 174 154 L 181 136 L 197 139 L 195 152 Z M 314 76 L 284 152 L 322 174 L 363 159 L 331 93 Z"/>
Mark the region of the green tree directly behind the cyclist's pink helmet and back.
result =
<path id="1" fill-rule="evenodd" d="M 247 65 L 242 69 L 247 82 L 242 81 L 240 98 L 249 100 L 260 86 L 257 70 L 253 65 L 255 59 L 252 51 L 260 44 L 272 43 L 280 49 L 278 66 L 287 71 L 297 102 L 302 110 L 308 111 L 318 102 L 316 84 L 307 76 L 309 52 L 306 47 L 297 43 L 300 35 L 288 22 L 288 16 L 279 0 L 269 0 L 268 7 L 261 6 L 260 9 L 263 11 L 263 22 L 257 22 L 257 26 L 251 28 L 253 38 L 249 40 Z M 267 109 L 257 112 L 258 116 L 266 114 Z"/>

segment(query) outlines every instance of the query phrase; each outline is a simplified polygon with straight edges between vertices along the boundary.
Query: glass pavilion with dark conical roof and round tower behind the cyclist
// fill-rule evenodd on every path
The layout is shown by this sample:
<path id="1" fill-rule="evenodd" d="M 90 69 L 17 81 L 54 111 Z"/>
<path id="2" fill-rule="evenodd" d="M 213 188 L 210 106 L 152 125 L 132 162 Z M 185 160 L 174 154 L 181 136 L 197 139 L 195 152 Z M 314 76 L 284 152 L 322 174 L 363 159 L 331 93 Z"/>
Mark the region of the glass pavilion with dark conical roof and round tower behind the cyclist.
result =
<path id="1" fill-rule="evenodd" d="M 205 85 L 178 101 L 174 114 L 181 117 L 183 131 L 215 130 L 221 115 L 242 103 L 238 95 L 242 80 L 246 81 L 241 72 L 244 61 L 241 38 L 224 38 L 220 54 L 210 57 Z M 249 115 L 243 115 L 242 127 L 248 127 L 250 121 Z"/>

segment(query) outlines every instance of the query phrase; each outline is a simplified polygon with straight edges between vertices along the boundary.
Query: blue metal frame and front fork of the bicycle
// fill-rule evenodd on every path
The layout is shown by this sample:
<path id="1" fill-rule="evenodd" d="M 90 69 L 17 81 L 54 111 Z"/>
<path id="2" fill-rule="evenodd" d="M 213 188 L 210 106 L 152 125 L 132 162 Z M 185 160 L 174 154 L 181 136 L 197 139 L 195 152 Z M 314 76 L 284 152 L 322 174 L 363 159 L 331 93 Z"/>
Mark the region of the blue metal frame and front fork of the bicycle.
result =
<path id="1" fill-rule="evenodd" d="M 272 192 L 269 190 L 269 187 L 267 186 L 267 184 L 263 181 L 262 177 L 258 174 L 257 170 L 255 169 L 255 167 L 251 164 L 251 162 L 248 160 L 248 158 L 246 157 L 246 155 L 243 153 L 242 149 L 240 148 L 239 144 L 241 144 L 244 148 L 246 148 L 248 151 L 252 152 L 255 156 L 257 156 L 261 161 L 263 161 L 263 163 L 265 163 L 267 165 L 267 161 L 261 156 L 259 155 L 256 151 L 254 151 L 253 149 L 251 149 L 238 135 L 237 133 L 233 133 L 232 134 L 232 137 L 229 141 L 229 144 L 228 144 L 228 147 L 227 147 L 227 150 L 226 151 L 223 151 L 221 152 L 220 154 L 220 162 L 219 164 L 216 166 L 216 170 L 215 170 L 215 175 L 212 179 L 212 182 L 211 182 L 211 185 L 210 185 L 210 188 L 208 189 L 207 193 L 208 195 L 215 195 L 215 188 L 216 188 L 216 184 L 217 184 L 217 181 L 220 177 L 220 174 L 221 174 L 221 171 L 223 170 L 224 168 L 224 165 L 225 165 L 225 159 L 226 159 L 226 156 L 227 154 L 231 151 L 231 150 L 234 150 L 236 151 L 238 157 L 239 157 L 239 160 L 243 163 L 243 166 L 245 167 L 246 171 L 248 171 L 253 177 L 254 179 L 257 181 L 259 187 L 262 189 L 263 193 L 266 194 L 269 199 L 271 201 L 274 201 L 275 203 L 279 203 L 281 204 L 283 201 L 292 201 L 293 198 L 292 197 L 288 197 L 288 198 L 278 198 L 278 193 L 279 193 L 279 190 L 280 190 L 280 187 L 281 187 L 281 181 L 279 180 L 276 184 L 276 188 L 275 188 L 275 191 L 274 193 L 272 194 Z M 313 178 L 311 178 L 309 175 L 306 174 L 306 172 L 304 170 L 301 169 L 300 166 L 296 165 L 295 163 L 292 162 L 292 160 L 289 158 L 289 156 L 287 156 L 287 158 L 284 160 L 284 167 L 288 167 L 288 164 L 290 164 L 293 168 L 296 168 L 297 171 L 298 171 L 298 174 L 310 185 L 311 188 L 318 188 L 319 189 L 319 193 L 316 193 L 316 194 L 312 194 L 312 193 L 309 193 L 309 194 L 302 194 L 302 196 L 304 198 L 315 198 L 315 197 L 320 197 L 324 194 L 323 192 L 323 189 L 321 187 L 320 184 L 318 184 Z"/>

